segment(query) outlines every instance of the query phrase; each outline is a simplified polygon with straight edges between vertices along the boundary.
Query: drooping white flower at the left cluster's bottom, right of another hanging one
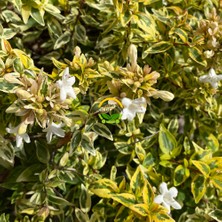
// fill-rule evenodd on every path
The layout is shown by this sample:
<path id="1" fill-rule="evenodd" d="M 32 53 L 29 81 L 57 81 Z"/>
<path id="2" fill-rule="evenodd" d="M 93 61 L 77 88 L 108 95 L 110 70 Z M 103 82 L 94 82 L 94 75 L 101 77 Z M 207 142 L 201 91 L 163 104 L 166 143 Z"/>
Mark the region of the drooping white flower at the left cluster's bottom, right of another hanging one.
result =
<path id="1" fill-rule="evenodd" d="M 43 130 L 43 132 L 46 132 L 46 139 L 47 142 L 50 143 L 52 140 L 52 136 L 53 134 L 58 136 L 58 137 L 64 137 L 65 136 L 65 132 L 63 129 L 61 129 L 62 124 L 56 124 L 54 122 L 49 123 L 48 127 L 46 129 Z"/>

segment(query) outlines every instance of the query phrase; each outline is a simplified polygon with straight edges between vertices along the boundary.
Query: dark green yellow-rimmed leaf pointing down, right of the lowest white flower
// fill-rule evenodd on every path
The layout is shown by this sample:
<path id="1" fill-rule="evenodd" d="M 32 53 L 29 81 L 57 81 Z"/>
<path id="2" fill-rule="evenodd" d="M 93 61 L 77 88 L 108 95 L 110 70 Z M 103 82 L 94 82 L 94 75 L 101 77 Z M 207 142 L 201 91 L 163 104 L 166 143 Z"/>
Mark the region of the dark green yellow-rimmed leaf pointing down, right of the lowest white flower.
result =
<path id="1" fill-rule="evenodd" d="M 206 179 L 203 175 L 196 175 L 191 183 L 191 192 L 194 197 L 195 203 L 199 203 L 204 194 L 206 193 L 207 183 Z"/>

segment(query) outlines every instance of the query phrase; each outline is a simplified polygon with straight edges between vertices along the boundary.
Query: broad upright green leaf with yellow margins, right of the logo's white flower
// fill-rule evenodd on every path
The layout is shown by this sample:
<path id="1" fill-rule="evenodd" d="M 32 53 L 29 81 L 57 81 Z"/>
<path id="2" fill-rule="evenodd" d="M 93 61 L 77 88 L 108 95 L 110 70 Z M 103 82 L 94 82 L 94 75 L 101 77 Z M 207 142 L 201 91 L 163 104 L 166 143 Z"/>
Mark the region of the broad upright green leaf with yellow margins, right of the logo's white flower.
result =
<path id="1" fill-rule="evenodd" d="M 161 124 L 159 131 L 159 146 L 164 154 L 170 155 L 173 150 L 177 149 L 175 137 Z"/>

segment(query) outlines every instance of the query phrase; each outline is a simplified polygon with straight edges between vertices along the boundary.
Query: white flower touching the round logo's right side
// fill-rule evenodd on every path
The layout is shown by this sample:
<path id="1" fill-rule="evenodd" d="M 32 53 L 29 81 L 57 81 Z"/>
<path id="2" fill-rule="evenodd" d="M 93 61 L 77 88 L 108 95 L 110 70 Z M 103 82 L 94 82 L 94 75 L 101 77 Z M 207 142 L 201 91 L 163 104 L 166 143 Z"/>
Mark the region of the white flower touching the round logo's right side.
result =
<path id="1" fill-rule="evenodd" d="M 139 99 L 131 100 L 129 98 L 122 99 L 123 111 L 122 111 L 122 120 L 128 119 L 132 121 L 137 113 L 146 112 L 146 99 L 141 97 Z"/>

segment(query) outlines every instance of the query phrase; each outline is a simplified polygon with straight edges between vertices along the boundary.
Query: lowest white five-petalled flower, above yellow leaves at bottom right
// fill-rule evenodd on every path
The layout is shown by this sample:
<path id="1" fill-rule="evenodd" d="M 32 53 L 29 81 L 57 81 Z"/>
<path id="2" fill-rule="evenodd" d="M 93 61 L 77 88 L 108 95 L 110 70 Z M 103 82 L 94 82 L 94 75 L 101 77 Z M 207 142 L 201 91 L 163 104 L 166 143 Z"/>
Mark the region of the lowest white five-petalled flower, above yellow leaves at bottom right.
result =
<path id="1" fill-rule="evenodd" d="M 170 207 L 173 207 L 177 210 L 181 209 L 180 204 L 176 200 L 174 200 L 174 198 L 178 194 L 176 187 L 171 187 L 168 190 L 167 184 L 165 182 L 162 182 L 160 184 L 159 190 L 160 194 L 154 198 L 155 203 L 162 204 L 168 210 L 168 213 L 170 213 Z"/>

